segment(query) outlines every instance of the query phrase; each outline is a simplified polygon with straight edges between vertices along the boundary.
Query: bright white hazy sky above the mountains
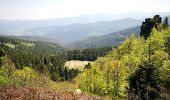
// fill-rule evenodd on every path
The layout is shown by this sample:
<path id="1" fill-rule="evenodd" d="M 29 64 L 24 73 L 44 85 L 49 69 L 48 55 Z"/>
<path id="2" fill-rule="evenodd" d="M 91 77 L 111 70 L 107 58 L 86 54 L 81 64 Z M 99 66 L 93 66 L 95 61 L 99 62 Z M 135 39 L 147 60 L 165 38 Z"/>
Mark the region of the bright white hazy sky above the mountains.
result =
<path id="1" fill-rule="evenodd" d="M 0 0 L 0 19 L 34 20 L 86 14 L 170 12 L 170 0 Z"/>

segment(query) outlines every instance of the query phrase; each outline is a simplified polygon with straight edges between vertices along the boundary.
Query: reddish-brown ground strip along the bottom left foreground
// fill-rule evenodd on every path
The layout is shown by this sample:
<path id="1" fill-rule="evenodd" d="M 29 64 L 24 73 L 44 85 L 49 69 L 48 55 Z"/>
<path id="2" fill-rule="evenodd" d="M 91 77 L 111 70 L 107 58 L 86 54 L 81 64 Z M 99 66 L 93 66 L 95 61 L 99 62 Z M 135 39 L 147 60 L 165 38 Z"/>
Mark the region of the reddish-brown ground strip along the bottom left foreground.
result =
<path id="1" fill-rule="evenodd" d="M 0 87 L 0 100 L 101 100 L 101 98 L 45 89 Z"/>

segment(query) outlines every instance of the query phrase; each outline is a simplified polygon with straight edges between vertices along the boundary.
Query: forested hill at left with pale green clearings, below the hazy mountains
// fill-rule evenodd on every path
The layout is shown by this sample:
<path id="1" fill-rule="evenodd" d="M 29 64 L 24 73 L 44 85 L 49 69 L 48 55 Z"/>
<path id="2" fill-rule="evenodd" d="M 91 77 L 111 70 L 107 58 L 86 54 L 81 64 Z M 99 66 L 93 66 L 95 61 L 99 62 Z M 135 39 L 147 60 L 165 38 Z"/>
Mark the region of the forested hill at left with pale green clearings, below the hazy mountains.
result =
<path id="1" fill-rule="evenodd" d="M 64 48 L 57 43 L 46 41 L 22 40 L 12 36 L 0 36 L 0 46 L 7 46 L 11 49 L 24 49 L 33 51 L 62 51 Z"/>

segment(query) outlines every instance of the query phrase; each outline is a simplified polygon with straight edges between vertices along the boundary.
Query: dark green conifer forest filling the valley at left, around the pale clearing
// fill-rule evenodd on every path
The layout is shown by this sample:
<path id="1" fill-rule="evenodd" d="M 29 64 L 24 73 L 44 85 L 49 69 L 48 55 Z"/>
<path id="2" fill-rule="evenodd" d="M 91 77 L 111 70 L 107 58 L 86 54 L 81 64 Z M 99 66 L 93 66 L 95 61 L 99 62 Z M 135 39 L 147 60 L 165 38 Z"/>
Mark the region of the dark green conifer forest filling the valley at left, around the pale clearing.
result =
<path id="1" fill-rule="evenodd" d="M 97 57 L 104 56 L 112 48 L 92 48 L 82 50 L 66 50 L 58 44 L 26 41 L 0 37 L 1 49 L 14 63 L 16 69 L 31 67 L 45 75 L 50 75 L 53 81 L 71 80 L 80 71 L 64 67 L 69 60 L 94 61 Z M 2 51 L 1 50 L 1 51 Z"/>

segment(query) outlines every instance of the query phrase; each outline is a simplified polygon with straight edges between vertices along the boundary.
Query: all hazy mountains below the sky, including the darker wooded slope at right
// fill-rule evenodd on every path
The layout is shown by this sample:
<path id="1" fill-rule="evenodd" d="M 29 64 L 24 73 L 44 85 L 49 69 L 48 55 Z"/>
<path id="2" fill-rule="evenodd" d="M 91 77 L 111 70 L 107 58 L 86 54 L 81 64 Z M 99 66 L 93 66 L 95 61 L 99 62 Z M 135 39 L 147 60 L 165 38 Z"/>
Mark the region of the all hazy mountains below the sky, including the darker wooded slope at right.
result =
<path id="1" fill-rule="evenodd" d="M 144 18 L 155 14 L 170 16 L 169 12 L 159 12 L 81 15 L 51 20 L 0 20 L 0 35 L 20 36 L 20 39 L 26 40 L 35 36 L 34 40 L 37 41 L 60 42 L 76 48 L 82 45 L 112 46 L 113 42 L 119 44 L 131 33 L 139 35 L 140 28 L 137 26 L 141 25 Z M 105 42 L 99 44 L 100 41 Z M 108 41 L 112 42 L 108 44 Z"/>

